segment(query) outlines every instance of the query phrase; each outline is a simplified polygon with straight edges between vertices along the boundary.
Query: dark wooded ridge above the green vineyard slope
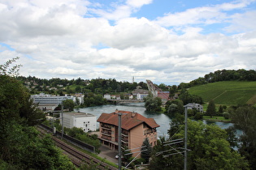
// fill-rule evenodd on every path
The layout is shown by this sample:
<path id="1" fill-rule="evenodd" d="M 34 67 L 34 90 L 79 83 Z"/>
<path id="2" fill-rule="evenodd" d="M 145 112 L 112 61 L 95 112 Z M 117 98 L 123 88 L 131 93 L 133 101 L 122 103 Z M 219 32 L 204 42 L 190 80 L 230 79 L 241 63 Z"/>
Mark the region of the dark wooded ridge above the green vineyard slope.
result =
<path id="1" fill-rule="evenodd" d="M 214 73 L 210 72 L 203 78 L 200 77 L 189 83 L 180 83 L 180 88 L 193 87 L 206 83 L 215 83 L 220 81 L 256 81 L 255 70 L 216 70 Z"/>

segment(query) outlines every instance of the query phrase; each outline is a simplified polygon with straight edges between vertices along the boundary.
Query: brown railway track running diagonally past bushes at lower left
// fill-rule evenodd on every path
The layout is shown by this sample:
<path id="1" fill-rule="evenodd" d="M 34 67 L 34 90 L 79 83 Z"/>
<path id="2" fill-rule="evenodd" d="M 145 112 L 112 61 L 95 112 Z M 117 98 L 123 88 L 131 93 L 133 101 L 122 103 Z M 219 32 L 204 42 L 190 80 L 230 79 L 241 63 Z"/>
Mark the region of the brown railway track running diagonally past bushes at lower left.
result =
<path id="1" fill-rule="evenodd" d="M 41 133 L 46 133 L 43 132 L 43 130 L 40 130 Z M 69 158 L 72 160 L 72 163 L 76 165 L 76 167 L 80 167 L 82 164 L 88 164 L 89 166 L 93 166 L 95 169 L 109 169 L 109 170 L 117 170 L 118 168 L 115 168 L 109 164 L 106 164 L 102 162 L 99 159 L 94 158 L 91 155 L 87 155 L 82 151 L 77 150 L 75 147 L 72 147 L 68 145 L 66 142 L 63 142 L 59 138 L 53 136 L 52 137 L 54 142 L 56 143 L 57 147 L 60 147 L 64 153 L 69 155 Z"/>

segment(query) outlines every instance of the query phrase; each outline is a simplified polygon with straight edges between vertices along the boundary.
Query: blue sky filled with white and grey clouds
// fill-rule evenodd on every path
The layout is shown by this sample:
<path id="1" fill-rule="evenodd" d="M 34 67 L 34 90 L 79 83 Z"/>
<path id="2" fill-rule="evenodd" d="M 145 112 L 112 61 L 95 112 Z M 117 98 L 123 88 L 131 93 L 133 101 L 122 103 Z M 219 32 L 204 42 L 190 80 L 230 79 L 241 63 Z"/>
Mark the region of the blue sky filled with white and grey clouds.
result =
<path id="1" fill-rule="evenodd" d="M 256 69 L 256 0 L 0 0 L 20 75 L 179 85 Z"/>

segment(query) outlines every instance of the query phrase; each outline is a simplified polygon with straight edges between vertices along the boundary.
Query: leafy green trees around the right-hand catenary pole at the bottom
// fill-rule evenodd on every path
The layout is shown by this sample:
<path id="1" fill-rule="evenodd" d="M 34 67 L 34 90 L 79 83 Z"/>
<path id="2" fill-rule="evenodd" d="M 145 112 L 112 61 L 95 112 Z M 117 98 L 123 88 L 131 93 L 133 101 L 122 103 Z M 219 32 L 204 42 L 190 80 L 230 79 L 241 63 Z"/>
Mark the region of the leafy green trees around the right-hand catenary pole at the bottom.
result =
<path id="1" fill-rule="evenodd" d="M 184 125 L 181 125 L 181 130 L 178 133 L 170 134 L 170 136 L 170 140 L 184 138 Z M 226 131 L 221 130 L 216 125 L 206 125 L 202 121 L 189 120 L 188 149 L 191 151 L 188 152 L 188 169 L 249 169 L 247 161 L 230 148 L 226 138 Z M 171 155 L 167 159 L 163 157 L 163 155 L 175 154 L 178 148 L 176 150 L 171 150 L 171 148 L 179 147 L 179 145 L 164 147 L 163 143 L 158 142 L 159 146 L 154 147 L 154 152 L 165 152 L 158 155 L 159 158 L 153 156 L 152 163 L 155 165 L 163 164 L 164 166 L 161 167 L 163 169 L 166 169 L 166 166 L 173 169 L 182 169 L 183 155 Z"/>

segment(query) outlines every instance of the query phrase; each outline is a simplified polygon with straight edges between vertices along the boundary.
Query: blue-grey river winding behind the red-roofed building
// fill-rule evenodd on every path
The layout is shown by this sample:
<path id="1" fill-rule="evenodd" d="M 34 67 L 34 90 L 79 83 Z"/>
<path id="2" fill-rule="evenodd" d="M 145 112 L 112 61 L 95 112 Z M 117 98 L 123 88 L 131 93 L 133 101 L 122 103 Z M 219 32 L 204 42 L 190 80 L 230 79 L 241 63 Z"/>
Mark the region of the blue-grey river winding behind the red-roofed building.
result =
<path id="1" fill-rule="evenodd" d="M 159 136 L 167 136 L 167 130 L 170 129 L 170 121 L 171 118 L 167 117 L 167 115 L 163 113 L 150 113 L 145 111 L 144 103 L 129 103 L 129 104 L 106 104 L 102 106 L 94 106 L 88 108 L 79 108 L 79 111 L 82 113 L 92 113 L 98 119 L 102 113 L 113 113 L 115 109 L 130 111 L 135 113 L 140 113 L 142 116 L 147 118 L 154 118 L 154 121 L 157 122 L 160 127 L 157 128 L 158 137 Z M 76 110 L 78 111 L 78 110 Z M 203 121 L 206 124 L 215 124 L 218 125 L 221 129 L 228 128 L 232 125 L 232 123 L 220 122 L 220 121 Z M 97 122 L 97 129 L 99 123 Z"/>

